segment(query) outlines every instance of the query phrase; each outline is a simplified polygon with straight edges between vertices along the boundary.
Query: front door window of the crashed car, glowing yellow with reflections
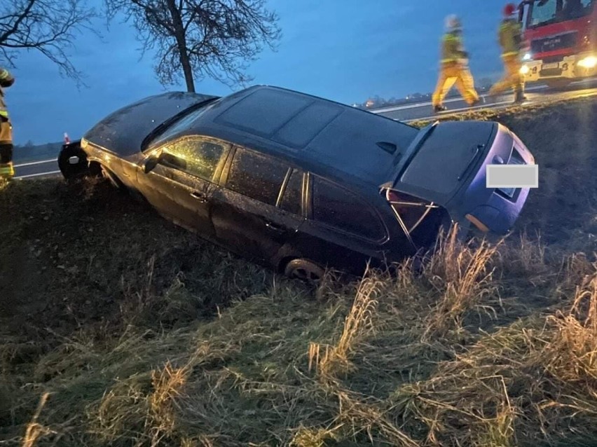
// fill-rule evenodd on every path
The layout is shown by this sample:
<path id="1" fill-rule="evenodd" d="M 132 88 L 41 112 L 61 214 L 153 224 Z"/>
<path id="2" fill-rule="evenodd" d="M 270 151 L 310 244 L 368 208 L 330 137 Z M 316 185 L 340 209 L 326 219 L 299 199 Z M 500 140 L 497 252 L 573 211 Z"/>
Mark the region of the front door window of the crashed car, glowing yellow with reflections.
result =
<path id="1" fill-rule="evenodd" d="M 203 138 L 184 138 L 164 147 L 160 163 L 212 181 L 223 155 L 222 144 Z"/>

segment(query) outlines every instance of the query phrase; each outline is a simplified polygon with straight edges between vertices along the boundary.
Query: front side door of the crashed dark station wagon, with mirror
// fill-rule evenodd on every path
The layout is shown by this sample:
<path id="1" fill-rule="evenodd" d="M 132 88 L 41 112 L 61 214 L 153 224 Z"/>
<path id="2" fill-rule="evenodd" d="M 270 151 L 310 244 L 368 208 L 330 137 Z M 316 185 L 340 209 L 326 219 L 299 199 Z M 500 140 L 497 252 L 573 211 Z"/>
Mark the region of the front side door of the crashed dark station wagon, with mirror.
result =
<path id="1" fill-rule="evenodd" d="M 230 145 L 207 137 L 183 137 L 158 149 L 158 164 L 139 172 L 146 199 L 175 224 L 211 239 L 210 196 Z"/>

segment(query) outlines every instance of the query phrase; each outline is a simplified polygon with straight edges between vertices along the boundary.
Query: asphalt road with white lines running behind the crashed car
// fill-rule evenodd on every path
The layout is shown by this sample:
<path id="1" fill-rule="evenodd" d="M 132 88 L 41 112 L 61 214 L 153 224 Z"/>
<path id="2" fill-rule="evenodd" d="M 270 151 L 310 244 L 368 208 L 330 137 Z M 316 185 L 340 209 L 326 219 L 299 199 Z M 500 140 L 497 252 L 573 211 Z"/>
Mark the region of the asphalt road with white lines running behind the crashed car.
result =
<path id="1" fill-rule="evenodd" d="M 573 99 L 582 96 L 597 95 L 597 79 L 591 81 L 581 81 L 571 84 L 568 88 L 560 90 L 550 90 L 545 86 L 530 87 L 527 89 L 526 97 L 528 98 L 523 105 L 540 104 L 541 102 L 548 102 L 554 99 Z M 444 114 L 459 114 L 470 110 L 480 109 L 504 109 L 512 104 L 513 95 L 500 95 L 496 97 L 487 97 L 482 95 L 482 102 L 475 107 L 468 107 L 467 104 L 456 97 L 447 99 L 444 104 L 448 107 L 448 111 Z M 387 116 L 394 120 L 400 121 L 415 121 L 420 119 L 432 119 L 438 115 L 433 114 L 430 102 L 422 102 L 417 104 L 406 104 L 403 106 L 387 107 L 385 109 L 371 110 L 373 113 Z M 23 163 L 15 165 L 15 178 L 29 179 L 60 175 L 57 160 L 41 160 L 32 163 Z"/>

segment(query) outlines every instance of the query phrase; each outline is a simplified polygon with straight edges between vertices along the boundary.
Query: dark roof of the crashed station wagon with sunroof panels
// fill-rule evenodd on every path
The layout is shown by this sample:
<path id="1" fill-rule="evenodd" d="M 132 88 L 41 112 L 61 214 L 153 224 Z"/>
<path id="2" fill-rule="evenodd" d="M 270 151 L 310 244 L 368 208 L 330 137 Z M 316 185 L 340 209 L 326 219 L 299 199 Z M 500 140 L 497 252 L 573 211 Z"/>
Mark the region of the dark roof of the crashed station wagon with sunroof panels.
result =
<path id="1" fill-rule="evenodd" d="M 368 111 L 269 85 L 222 97 L 184 134 L 212 135 L 338 181 L 387 181 L 418 129 Z"/>

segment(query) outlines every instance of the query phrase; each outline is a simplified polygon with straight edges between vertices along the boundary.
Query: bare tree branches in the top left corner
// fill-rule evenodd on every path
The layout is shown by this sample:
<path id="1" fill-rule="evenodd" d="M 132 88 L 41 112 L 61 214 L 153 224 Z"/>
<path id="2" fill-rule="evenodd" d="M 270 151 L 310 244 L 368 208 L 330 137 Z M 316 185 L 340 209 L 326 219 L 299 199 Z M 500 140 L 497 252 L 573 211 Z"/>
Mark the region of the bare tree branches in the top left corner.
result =
<path id="1" fill-rule="evenodd" d="M 38 50 L 57 64 L 60 72 L 76 81 L 78 71 L 69 60 L 67 48 L 75 32 L 88 28 L 95 16 L 82 0 L 1 0 L 0 54 L 11 67 L 18 50 Z"/>

